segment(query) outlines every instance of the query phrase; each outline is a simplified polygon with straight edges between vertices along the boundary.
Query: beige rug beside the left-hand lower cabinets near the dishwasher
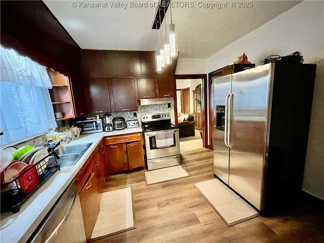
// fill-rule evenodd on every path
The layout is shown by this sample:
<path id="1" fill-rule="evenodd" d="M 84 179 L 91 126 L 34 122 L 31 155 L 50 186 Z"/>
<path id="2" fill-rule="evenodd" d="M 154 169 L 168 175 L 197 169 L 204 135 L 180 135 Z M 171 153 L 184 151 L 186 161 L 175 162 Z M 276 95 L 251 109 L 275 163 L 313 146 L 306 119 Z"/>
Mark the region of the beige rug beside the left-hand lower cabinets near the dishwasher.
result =
<path id="1" fill-rule="evenodd" d="M 132 188 L 102 193 L 100 213 L 91 240 L 124 232 L 135 227 Z"/>

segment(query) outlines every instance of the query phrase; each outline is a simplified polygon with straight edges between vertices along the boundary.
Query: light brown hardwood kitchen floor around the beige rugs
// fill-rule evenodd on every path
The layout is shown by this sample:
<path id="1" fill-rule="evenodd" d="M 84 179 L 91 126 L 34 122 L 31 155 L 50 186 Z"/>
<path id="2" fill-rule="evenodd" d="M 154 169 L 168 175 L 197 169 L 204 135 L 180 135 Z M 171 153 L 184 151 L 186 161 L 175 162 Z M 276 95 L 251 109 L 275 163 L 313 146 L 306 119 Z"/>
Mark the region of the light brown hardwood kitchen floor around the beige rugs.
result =
<path id="1" fill-rule="evenodd" d="M 289 211 L 227 227 L 193 183 L 213 179 L 213 151 L 182 154 L 189 177 L 146 186 L 145 170 L 109 176 L 105 190 L 132 186 L 136 228 L 95 242 L 324 242 L 324 210 Z"/>

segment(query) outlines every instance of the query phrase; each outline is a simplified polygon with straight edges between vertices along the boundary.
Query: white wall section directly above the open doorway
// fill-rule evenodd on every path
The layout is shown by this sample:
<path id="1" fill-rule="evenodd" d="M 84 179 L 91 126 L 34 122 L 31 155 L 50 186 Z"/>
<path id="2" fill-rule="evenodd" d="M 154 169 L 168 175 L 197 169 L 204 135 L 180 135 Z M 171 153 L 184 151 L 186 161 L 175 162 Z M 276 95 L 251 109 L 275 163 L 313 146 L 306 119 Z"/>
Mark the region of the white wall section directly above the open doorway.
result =
<path id="1" fill-rule="evenodd" d="M 181 56 L 181 54 L 180 54 Z M 206 59 L 178 58 L 175 74 L 205 74 Z"/>

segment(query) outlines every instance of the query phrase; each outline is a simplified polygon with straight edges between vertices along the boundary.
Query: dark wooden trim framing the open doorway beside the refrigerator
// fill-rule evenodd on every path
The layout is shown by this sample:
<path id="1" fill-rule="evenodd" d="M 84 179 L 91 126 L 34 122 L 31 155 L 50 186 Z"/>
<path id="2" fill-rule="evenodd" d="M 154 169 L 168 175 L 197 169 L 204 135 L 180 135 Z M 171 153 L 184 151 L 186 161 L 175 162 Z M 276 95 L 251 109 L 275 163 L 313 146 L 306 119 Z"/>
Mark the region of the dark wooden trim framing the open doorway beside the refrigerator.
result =
<path id="1" fill-rule="evenodd" d="M 208 79 L 207 79 L 207 74 L 180 74 L 180 75 L 175 75 L 175 79 L 197 79 L 201 78 L 203 79 L 203 82 L 201 82 L 202 87 L 201 87 L 201 100 L 203 103 L 201 104 L 201 113 L 203 114 L 202 117 L 202 123 L 203 123 L 203 147 L 204 148 L 209 148 L 208 146 L 208 119 L 207 119 L 207 86 L 208 86 Z M 178 123 L 178 116 L 176 116 L 176 120 Z"/>

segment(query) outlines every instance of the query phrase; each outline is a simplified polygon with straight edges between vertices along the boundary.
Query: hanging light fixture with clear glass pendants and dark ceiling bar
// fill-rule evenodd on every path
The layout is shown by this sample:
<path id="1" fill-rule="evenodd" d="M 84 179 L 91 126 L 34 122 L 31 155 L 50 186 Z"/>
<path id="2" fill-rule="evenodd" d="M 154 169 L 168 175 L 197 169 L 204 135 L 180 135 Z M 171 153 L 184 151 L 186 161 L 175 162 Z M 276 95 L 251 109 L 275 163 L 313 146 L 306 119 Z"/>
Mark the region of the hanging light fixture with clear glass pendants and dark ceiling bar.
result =
<path id="1" fill-rule="evenodd" d="M 155 65 L 157 71 L 161 71 L 163 67 L 172 63 L 172 57 L 178 54 L 176 24 L 172 19 L 170 2 L 171 0 L 160 0 L 158 2 L 152 25 L 152 29 L 156 30 Z M 164 18 L 169 7 L 170 23 L 167 25 L 167 20 L 164 20 Z M 163 20 L 164 25 L 162 24 Z"/>

